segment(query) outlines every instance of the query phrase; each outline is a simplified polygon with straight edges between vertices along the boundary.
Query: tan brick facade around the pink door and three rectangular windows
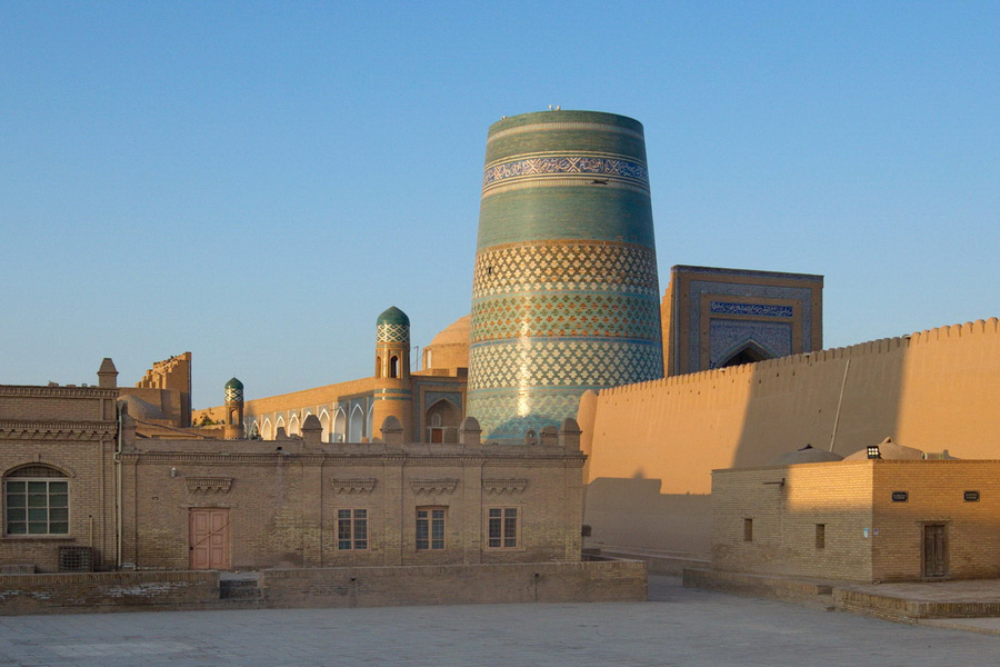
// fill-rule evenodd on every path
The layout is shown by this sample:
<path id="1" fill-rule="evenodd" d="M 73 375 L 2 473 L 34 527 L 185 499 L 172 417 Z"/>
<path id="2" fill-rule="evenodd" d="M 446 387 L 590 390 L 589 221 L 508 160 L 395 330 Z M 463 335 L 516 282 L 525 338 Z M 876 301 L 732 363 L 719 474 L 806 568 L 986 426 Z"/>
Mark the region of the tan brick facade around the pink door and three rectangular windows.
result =
<path id="1" fill-rule="evenodd" d="M 562 447 L 138 440 L 122 459 L 123 560 L 140 568 L 189 567 L 199 507 L 229 510 L 233 569 L 580 559 L 583 457 Z M 443 550 L 417 550 L 428 506 L 447 507 Z M 519 508 L 518 548 L 486 548 L 488 507 Z M 369 548 L 339 550 L 337 510 L 356 508 L 368 510 Z"/>

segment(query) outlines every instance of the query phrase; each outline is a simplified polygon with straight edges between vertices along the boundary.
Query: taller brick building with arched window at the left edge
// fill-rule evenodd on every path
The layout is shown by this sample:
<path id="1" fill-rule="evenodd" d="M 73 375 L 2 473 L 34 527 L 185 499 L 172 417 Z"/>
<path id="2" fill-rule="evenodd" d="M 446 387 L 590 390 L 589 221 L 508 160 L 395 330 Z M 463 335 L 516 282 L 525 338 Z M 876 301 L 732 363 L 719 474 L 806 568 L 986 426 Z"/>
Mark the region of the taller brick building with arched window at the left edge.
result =
<path id="1" fill-rule="evenodd" d="M 0 567 L 53 571 L 80 550 L 116 563 L 118 389 L 104 359 L 97 387 L 0 386 L 3 532 Z"/>

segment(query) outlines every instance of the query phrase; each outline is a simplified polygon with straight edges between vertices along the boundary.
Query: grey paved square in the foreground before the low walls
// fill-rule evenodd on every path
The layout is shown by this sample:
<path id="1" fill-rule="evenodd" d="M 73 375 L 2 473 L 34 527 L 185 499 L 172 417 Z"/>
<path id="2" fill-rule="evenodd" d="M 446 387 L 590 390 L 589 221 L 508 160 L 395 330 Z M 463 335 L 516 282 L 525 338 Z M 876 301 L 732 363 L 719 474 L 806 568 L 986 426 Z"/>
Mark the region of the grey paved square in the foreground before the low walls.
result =
<path id="1" fill-rule="evenodd" d="M 686 589 L 649 603 L 0 617 L 0 666 L 993 665 L 1000 637 Z"/>

